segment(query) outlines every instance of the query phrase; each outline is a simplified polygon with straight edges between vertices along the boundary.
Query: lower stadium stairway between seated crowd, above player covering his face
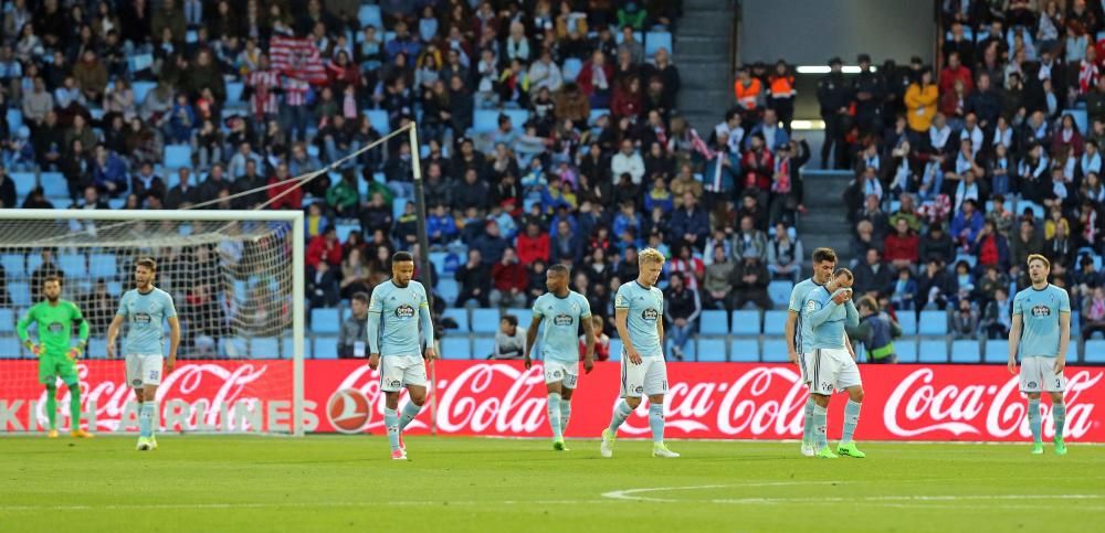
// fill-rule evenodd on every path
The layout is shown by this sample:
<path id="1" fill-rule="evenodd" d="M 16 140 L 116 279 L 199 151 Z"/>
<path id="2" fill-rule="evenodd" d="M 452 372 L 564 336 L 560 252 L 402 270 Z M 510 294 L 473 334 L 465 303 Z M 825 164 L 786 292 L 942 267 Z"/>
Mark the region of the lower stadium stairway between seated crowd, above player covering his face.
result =
<path id="1" fill-rule="evenodd" d="M 840 265 L 846 266 L 850 257 L 852 228 L 848 224 L 848 209 L 842 198 L 851 171 L 819 170 L 807 166 L 802 169 L 806 188 L 807 212 L 798 221 L 798 235 L 804 248 L 829 246 L 840 256 Z M 810 271 L 810 259 L 806 258 L 806 271 Z"/>

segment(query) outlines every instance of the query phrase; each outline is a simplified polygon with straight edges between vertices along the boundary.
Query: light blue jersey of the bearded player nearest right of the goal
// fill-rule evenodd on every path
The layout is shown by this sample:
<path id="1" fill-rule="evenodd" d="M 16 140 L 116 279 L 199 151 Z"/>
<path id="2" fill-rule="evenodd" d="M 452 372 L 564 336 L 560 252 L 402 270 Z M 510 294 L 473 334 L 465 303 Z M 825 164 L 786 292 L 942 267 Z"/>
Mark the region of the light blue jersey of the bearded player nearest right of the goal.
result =
<path id="1" fill-rule="evenodd" d="M 433 322 L 425 288 L 418 281 L 399 287 L 387 280 L 372 289 L 368 305 L 368 347 L 371 353 L 388 355 L 421 355 L 419 322 L 427 345 L 433 345 Z"/>

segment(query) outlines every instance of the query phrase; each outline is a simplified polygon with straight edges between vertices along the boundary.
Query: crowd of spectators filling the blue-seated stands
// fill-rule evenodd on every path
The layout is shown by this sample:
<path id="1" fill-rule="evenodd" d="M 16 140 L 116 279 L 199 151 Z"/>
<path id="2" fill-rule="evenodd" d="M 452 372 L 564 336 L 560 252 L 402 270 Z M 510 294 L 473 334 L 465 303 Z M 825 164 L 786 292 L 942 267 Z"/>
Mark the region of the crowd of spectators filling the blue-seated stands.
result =
<path id="1" fill-rule="evenodd" d="M 938 71 L 863 55 L 859 75 L 836 60 L 819 83 L 822 164 L 856 173 L 857 292 L 997 335 L 1010 281 L 1024 287 L 1024 257 L 1042 252 L 1083 331 L 1105 326 L 1105 17 L 1083 1 L 945 3 Z M 699 134 L 676 109 L 671 40 L 643 39 L 676 31 L 677 0 L 6 9 L 0 206 L 305 210 L 313 307 L 356 302 L 393 250 L 419 252 L 413 154 L 396 137 L 302 188 L 285 180 L 412 120 L 439 312 L 526 307 L 561 262 L 614 335 L 612 295 L 651 246 L 670 257 L 681 356 L 703 310 L 783 307 L 769 287 L 800 279 L 811 249 L 796 235 L 810 148 L 790 127 L 791 67 L 741 67 L 733 109 Z M 1083 105 L 1088 130 L 1064 111 Z M 64 195 L 18 198 L 9 172 L 60 172 Z"/>

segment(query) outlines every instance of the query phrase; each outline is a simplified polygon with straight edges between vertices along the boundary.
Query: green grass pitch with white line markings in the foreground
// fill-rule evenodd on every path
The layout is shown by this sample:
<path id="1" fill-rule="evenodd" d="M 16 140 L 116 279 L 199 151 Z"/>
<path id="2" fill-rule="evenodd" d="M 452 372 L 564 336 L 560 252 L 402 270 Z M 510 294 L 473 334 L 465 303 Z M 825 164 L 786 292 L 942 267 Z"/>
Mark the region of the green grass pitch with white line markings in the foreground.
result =
<path id="1" fill-rule="evenodd" d="M 0 439 L 0 531 L 1094 531 L 1105 447 L 162 436 Z M 1097 530 L 1099 531 L 1099 530 Z"/>

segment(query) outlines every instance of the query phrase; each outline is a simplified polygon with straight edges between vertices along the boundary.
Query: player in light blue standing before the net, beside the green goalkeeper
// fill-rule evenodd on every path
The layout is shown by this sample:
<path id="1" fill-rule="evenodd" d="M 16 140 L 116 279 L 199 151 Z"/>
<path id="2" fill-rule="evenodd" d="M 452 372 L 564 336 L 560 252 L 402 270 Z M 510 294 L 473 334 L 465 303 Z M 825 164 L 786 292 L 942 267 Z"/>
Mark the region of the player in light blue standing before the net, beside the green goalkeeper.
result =
<path id="1" fill-rule="evenodd" d="M 157 264 L 149 257 L 135 263 L 135 288 L 123 294 L 119 310 L 107 328 L 107 356 L 115 358 L 115 339 L 124 322 L 127 334 L 123 338 L 127 383 L 138 399 L 138 451 L 157 449 L 154 433 L 161 426 L 157 405 L 157 387 L 161 377 L 177 365 L 177 347 L 180 345 L 180 321 L 177 308 L 168 292 L 154 287 Z M 169 360 L 162 355 L 162 323 L 169 323 Z M 162 372 L 164 365 L 164 372 Z"/>

